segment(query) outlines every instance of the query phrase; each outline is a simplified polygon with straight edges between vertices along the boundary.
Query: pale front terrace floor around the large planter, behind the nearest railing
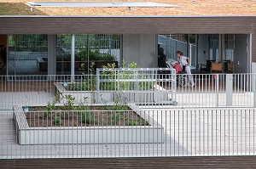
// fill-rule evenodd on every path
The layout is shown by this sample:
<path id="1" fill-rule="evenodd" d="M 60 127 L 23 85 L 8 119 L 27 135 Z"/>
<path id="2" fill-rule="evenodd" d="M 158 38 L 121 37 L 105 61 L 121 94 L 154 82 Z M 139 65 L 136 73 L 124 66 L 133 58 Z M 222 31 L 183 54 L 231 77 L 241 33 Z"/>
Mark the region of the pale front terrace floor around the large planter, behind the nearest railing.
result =
<path id="1" fill-rule="evenodd" d="M 0 112 L 0 158 L 131 157 L 178 155 L 254 155 L 254 111 L 143 109 L 164 127 L 163 144 L 17 143 L 11 111 Z M 233 120 L 232 120 L 233 119 Z M 250 120 L 251 119 L 251 120 Z M 75 131 L 74 131 L 75 132 Z"/>

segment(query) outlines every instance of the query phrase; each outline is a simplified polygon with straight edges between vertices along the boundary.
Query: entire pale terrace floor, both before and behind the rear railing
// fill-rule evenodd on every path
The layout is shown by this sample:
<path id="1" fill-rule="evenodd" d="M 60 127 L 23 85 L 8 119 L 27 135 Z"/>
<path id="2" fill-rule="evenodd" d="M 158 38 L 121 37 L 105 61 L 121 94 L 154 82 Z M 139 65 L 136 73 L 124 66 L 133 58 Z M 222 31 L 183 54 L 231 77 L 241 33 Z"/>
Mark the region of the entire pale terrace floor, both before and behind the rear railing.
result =
<path id="1" fill-rule="evenodd" d="M 54 89 L 52 87 L 47 89 L 47 86 L 45 88 L 45 85 L 32 83 L 30 87 L 26 87 L 37 88 L 33 92 L 31 90 L 26 92 L 25 89 L 12 91 L 11 88 L 5 90 L 7 92 L 1 92 L 0 99 L 3 101 L 0 103 L 0 158 L 254 155 L 255 152 L 254 111 L 248 114 L 245 113 L 248 108 L 241 108 L 242 111 L 235 113 L 232 111 L 229 114 L 220 111 L 213 114 L 201 113 L 201 109 L 209 110 L 211 109 L 209 107 L 218 109 L 214 108 L 217 105 L 222 106 L 219 109 L 228 108 L 225 108 L 224 90 L 220 90 L 217 94 L 214 88 L 200 89 L 199 85 L 177 87 L 177 92 L 173 95 L 177 106 L 164 104 L 141 106 L 164 127 L 163 144 L 20 145 L 17 143 L 12 106 L 24 103 L 47 104 L 54 99 Z M 19 84 L 15 87 L 19 87 Z M 20 87 L 24 86 L 20 85 Z M 233 105 L 252 107 L 253 93 L 236 91 L 233 93 Z M 175 112 L 175 108 L 179 106 L 183 109 L 176 110 L 187 110 L 190 113 Z M 196 110 L 196 107 L 201 109 Z"/>

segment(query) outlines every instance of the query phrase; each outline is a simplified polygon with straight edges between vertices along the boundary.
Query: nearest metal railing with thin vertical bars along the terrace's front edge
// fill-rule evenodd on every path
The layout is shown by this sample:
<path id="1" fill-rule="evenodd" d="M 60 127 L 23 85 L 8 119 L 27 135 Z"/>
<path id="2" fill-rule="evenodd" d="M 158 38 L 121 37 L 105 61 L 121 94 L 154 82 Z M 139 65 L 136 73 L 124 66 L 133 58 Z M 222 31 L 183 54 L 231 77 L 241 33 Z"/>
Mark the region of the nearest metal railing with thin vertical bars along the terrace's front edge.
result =
<path id="1" fill-rule="evenodd" d="M 253 108 L 131 109 L 1 111 L 0 159 L 255 155 Z"/>

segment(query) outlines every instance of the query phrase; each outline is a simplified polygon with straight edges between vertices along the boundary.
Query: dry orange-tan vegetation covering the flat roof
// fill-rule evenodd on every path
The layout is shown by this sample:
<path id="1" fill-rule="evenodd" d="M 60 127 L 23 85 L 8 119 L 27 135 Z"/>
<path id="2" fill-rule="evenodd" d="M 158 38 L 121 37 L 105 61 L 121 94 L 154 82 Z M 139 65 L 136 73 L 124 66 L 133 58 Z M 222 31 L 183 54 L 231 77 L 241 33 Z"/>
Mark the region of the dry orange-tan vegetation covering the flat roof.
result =
<path id="1" fill-rule="evenodd" d="M 45 0 L 38 0 L 45 1 Z M 53 0 L 53 2 L 60 0 Z M 75 1 L 75 0 L 74 0 Z M 109 0 L 98 0 L 109 2 Z M 128 1 L 128 0 L 119 0 Z M 137 2 L 136 0 L 132 0 Z M 132 2 L 130 1 L 130 2 Z M 30 8 L 24 0 L 0 0 L 1 15 L 255 15 L 253 0 L 153 0 L 154 3 L 179 5 L 180 8 Z M 140 2 L 147 2 L 142 0 Z"/>

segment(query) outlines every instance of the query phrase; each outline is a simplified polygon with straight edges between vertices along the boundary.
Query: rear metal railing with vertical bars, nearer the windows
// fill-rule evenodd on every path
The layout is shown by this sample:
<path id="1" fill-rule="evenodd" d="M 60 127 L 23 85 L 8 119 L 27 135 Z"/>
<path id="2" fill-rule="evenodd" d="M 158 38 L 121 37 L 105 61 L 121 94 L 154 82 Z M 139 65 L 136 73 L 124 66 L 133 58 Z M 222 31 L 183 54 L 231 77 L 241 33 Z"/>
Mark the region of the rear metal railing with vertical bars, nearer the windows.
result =
<path id="1" fill-rule="evenodd" d="M 47 104 L 54 99 L 64 104 L 68 95 L 76 102 L 85 98 L 88 104 L 119 100 L 152 108 L 256 106 L 256 74 L 198 74 L 193 75 L 195 86 L 189 87 L 183 83 L 186 74 L 125 71 L 129 76 L 123 76 L 121 70 L 114 76 L 0 76 L 0 110 L 12 110 L 15 104 Z"/>

